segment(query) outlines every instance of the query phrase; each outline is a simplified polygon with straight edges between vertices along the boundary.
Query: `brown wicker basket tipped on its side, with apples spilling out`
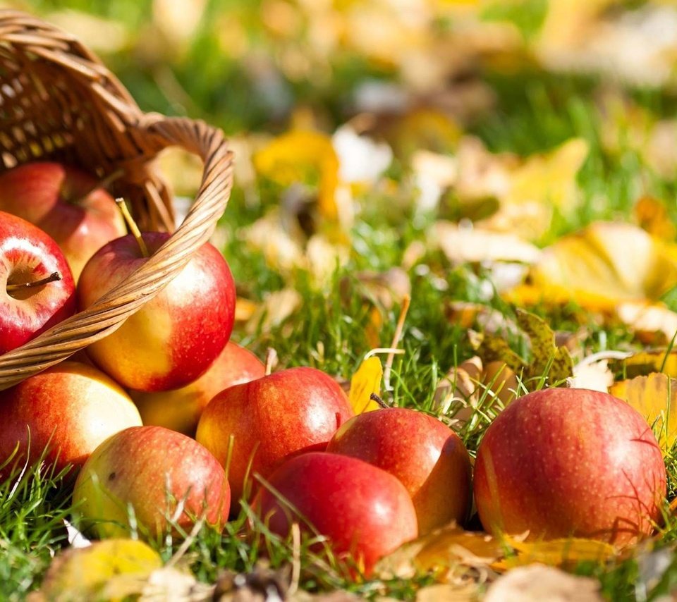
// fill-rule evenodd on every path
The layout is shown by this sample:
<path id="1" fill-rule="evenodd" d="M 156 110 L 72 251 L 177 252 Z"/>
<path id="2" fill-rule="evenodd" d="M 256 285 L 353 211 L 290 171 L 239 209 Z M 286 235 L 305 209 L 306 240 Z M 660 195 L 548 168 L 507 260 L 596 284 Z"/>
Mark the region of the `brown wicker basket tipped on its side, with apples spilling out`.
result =
<path id="1" fill-rule="evenodd" d="M 106 178 L 142 228 L 173 231 L 154 158 L 183 147 L 204 163 L 181 226 L 140 269 L 85 311 L 0 356 L 0 390 L 61 362 L 114 331 L 166 286 L 212 235 L 226 209 L 232 154 L 202 121 L 143 113 L 123 85 L 77 39 L 18 11 L 0 11 L 0 172 L 28 161 L 75 164 Z"/>

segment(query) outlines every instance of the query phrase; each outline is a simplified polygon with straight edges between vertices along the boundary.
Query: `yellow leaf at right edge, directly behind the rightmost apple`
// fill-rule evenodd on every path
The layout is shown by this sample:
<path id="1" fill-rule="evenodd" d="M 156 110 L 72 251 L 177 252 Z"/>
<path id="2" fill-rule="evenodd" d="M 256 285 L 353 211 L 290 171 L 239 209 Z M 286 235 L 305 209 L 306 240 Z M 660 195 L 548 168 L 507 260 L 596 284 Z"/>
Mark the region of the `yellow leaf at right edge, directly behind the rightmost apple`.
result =
<path id="1" fill-rule="evenodd" d="M 677 379 L 653 372 L 614 383 L 609 393 L 635 408 L 652 426 L 666 453 L 677 441 Z"/>

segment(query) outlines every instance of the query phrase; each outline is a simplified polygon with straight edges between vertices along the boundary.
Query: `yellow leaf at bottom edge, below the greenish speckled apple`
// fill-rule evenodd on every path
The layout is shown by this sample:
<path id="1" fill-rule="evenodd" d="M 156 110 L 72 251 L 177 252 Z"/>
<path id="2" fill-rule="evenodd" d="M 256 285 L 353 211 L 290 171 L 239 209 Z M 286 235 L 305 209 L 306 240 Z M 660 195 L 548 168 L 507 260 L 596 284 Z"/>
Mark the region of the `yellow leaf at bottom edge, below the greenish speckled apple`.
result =
<path id="1" fill-rule="evenodd" d="M 47 570 L 41 593 L 47 600 L 64 602 L 122 600 L 140 594 L 148 577 L 161 565 L 159 554 L 142 541 L 96 541 L 58 555 Z M 111 587 L 114 579 L 116 586 Z"/>

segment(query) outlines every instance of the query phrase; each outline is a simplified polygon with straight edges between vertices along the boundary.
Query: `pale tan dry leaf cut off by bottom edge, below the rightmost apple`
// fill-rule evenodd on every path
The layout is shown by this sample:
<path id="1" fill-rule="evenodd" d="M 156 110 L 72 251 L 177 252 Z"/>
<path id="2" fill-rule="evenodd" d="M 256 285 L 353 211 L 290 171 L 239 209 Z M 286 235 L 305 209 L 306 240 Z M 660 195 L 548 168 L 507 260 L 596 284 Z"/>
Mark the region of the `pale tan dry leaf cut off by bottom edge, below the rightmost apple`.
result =
<path id="1" fill-rule="evenodd" d="M 484 602 L 602 602 L 599 581 L 575 577 L 554 567 L 530 565 L 496 579 Z"/>

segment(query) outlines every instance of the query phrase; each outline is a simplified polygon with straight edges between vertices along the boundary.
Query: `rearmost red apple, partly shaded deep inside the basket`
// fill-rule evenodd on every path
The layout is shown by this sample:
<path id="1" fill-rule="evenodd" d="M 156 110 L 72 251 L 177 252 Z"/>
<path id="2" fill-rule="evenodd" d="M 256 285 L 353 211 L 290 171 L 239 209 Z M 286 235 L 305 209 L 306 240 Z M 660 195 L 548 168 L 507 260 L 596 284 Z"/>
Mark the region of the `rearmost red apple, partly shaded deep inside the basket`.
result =
<path id="1" fill-rule="evenodd" d="M 54 238 L 75 281 L 99 247 L 127 233 L 113 197 L 99 180 L 54 161 L 35 161 L 0 174 L 0 210 Z"/>

